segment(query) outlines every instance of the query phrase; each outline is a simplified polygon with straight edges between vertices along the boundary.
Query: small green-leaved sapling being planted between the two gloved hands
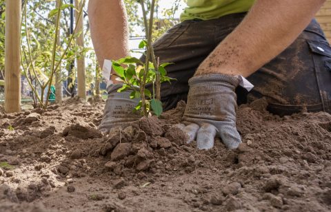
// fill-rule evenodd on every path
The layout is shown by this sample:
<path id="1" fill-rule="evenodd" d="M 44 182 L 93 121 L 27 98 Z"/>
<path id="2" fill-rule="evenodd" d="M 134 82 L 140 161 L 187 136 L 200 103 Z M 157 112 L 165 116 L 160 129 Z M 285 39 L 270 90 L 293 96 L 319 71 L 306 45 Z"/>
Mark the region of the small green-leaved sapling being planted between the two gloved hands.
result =
<path id="1" fill-rule="evenodd" d="M 159 64 L 159 59 L 154 56 L 152 47 L 152 28 L 154 24 L 155 0 L 150 3 L 150 19 L 148 23 L 145 3 L 140 0 L 143 10 L 143 21 L 145 25 L 147 41 L 143 40 L 139 48 L 146 48 L 146 61 L 134 57 L 126 57 L 117 61 L 112 61 L 112 68 L 116 75 L 123 81 L 123 87 L 118 92 L 132 89 L 130 98 L 141 98 L 135 110 L 140 111 L 143 116 L 148 116 L 150 112 L 160 116 L 163 112 L 161 103 L 161 83 L 174 80 L 167 75 L 165 67 L 170 63 Z M 146 89 L 146 85 L 152 83 L 152 93 Z"/>

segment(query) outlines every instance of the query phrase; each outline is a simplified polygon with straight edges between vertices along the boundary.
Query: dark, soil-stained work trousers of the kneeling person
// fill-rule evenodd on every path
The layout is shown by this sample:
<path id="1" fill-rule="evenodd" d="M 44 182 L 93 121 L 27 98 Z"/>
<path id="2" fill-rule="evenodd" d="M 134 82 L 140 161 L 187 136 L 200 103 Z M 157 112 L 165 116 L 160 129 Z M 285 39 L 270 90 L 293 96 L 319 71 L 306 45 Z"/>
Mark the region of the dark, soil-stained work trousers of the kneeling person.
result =
<path id="1" fill-rule="evenodd" d="M 242 13 L 209 21 L 183 21 L 154 43 L 161 63 L 174 63 L 167 71 L 168 76 L 177 79 L 162 85 L 165 109 L 187 99 L 188 80 L 199 64 L 244 17 Z M 239 105 L 265 97 L 268 110 L 280 116 L 301 111 L 330 113 L 331 47 L 319 23 L 312 20 L 290 47 L 249 76 L 248 81 L 255 87 L 249 93 L 241 87 L 237 89 Z"/>

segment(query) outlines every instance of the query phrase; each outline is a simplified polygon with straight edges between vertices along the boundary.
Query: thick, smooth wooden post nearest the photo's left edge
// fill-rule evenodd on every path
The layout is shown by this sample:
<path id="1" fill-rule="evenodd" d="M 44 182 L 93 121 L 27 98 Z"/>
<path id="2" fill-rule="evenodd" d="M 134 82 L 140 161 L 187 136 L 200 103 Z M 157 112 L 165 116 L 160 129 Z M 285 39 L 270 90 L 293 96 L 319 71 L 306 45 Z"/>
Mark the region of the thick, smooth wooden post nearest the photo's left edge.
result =
<path id="1" fill-rule="evenodd" d="M 21 111 L 21 0 L 6 0 L 5 110 Z"/>

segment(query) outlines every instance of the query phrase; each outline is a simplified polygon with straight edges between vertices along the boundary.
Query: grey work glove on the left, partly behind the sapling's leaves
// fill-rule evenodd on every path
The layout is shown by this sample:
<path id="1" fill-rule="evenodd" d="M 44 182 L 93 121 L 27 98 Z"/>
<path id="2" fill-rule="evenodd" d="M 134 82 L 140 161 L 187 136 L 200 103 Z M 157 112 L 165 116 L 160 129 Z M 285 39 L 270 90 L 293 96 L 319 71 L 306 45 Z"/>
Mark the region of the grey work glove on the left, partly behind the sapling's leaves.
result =
<path id="1" fill-rule="evenodd" d="M 140 101 L 138 98 L 130 99 L 132 90 L 117 92 L 123 84 L 114 84 L 107 87 L 108 99 L 106 101 L 103 118 L 99 130 L 108 133 L 112 127 L 126 127 L 130 123 L 139 120 L 141 116 L 134 114 L 133 109 Z"/>

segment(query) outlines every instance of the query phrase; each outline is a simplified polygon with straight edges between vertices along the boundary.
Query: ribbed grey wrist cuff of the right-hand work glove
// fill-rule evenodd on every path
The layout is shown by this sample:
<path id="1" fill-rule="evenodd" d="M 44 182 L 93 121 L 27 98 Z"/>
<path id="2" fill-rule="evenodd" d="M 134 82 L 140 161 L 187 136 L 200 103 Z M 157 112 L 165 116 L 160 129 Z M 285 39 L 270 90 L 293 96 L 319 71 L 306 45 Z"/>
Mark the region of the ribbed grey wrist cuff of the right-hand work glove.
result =
<path id="1" fill-rule="evenodd" d="M 190 86 L 200 83 L 230 83 L 234 87 L 237 87 L 240 83 L 239 77 L 228 74 L 204 74 L 200 76 L 194 76 L 190 78 L 188 84 Z"/>

